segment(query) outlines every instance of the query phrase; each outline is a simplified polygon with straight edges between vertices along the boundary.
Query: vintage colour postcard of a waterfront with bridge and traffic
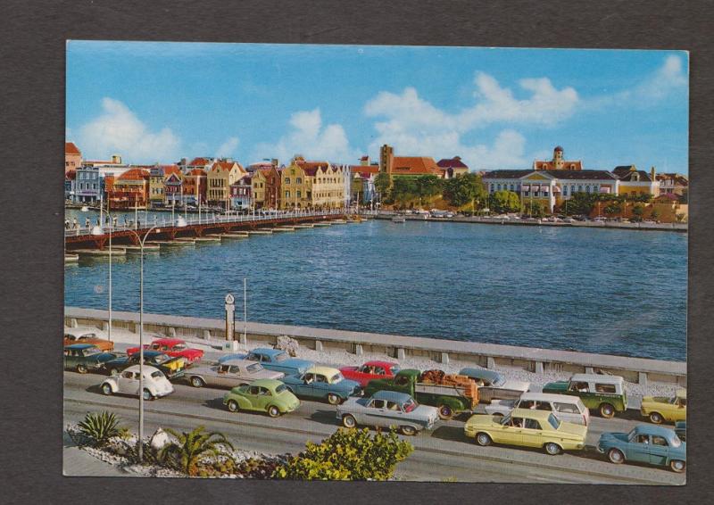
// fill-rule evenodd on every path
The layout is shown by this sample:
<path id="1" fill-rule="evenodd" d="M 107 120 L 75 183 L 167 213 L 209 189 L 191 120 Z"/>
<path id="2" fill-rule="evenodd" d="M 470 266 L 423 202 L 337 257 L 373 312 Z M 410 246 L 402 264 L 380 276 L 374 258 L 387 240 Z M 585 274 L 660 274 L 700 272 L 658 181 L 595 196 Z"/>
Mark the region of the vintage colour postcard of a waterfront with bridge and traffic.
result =
<path id="1" fill-rule="evenodd" d="M 689 54 L 66 53 L 65 476 L 685 484 Z"/>

